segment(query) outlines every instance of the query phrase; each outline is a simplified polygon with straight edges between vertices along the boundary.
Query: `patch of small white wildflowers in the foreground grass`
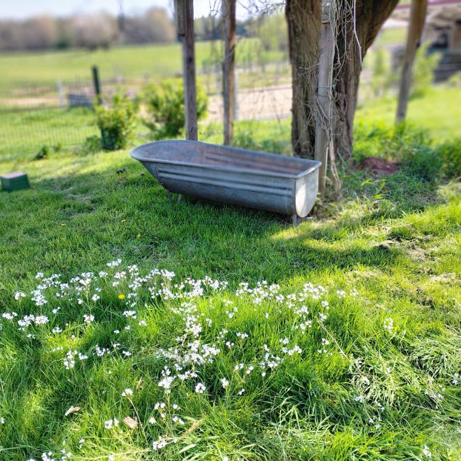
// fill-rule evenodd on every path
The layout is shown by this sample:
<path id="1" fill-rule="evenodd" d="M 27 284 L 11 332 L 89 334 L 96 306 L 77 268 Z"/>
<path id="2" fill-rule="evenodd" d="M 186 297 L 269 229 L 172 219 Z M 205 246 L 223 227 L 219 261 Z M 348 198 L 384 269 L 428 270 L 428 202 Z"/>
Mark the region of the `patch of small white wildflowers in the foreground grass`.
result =
<path id="1" fill-rule="evenodd" d="M 57 335 L 67 333 L 70 340 L 74 341 L 72 346 L 68 346 L 66 349 L 62 346 L 56 346 L 51 350 L 59 352 L 60 357 L 62 357 L 61 354 L 65 354 L 60 363 L 64 363 L 66 369 L 76 368 L 78 370 L 77 361 L 85 361 L 88 359 L 88 355 L 93 355 L 92 360 L 101 361 L 109 361 L 110 358 L 107 356 L 110 354 L 127 361 L 133 360 L 133 357 L 136 359 L 137 350 L 133 345 L 136 343 L 127 341 L 127 337 L 132 339 L 133 335 L 140 331 L 138 327 L 148 326 L 148 317 L 145 317 L 145 320 L 138 319 L 138 316 L 142 318 L 146 297 L 150 297 L 155 302 L 163 301 L 166 308 L 171 309 L 175 325 L 180 325 L 180 330 L 175 333 L 175 337 L 170 339 L 173 344 L 171 347 L 157 348 L 154 351 L 156 359 L 162 363 L 157 384 L 166 394 L 166 403 L 158 402 L 154 407 L 158 414 L 149 416 L 150 424 L 156 424 L 159 430 L 162 428 L 165 430 L 163 435 L 159 435 L 158 440 L 152 444 L 156 451 L 175 442 L 175 438 L 166 435 L 171 434 L 167 431 L 171 430 L 172 423 L 182 426 L 187 421 L 187 418 L 178 414 L 179 407 L 171 403 L 172 389 L 177 384 L 182 383 L 184 385 L 186 382 L 191 392 L 203 394 L 200 398 L 208 398 L 218 389 L 215 389 L 212 384 L 213 381 L 210 379 L 212 377 L 204 375 L 205 366 L 214 363 L 225 354 L 229 354 L 228 357 L 236 357 L 234 354 L 240 353 L 241 350 L 247 352 L 250 347 L 248 345 L 253 344 L 255 338 L 252 337 L 250 331 L 245 331 L 245 327 L 242 327 L 245 323 L 241 322 L 241 312 L 245 311 L 246 314 L 246 307 L 242 308 L 242 306 L 248 306 L 248 301 L 249 305 L 254 306 L 252 309 L 254 308 L 255 315 L 260 316 L 258 319 L 266 323 L 267 328 L 271 327 L 271 322 L 279 315 L 289 317 L 290 327 L 282 330 L 281 338 L 275 344 L 270 343 L 270 348 L 264 344 L 263 347 L 255 347 L 253 355 L 249 359 L 246 354 L 244 361 L 235 359 L 232 364 L 229 364 L 229 368 L 222 372 L 221 376 L 224 374 L 226 377 L 214 377 L 215 382 L 218 382 L 219 392 L 223 392 L 221 389 L 225 389 L 226 395 L 242 396 L 245 392 L 249 392 L 248 390 L 252 388 L 255 379 L 261 380 L 259 375 L 265 378 L 284 362 L 290 363 L 290 361 L 305 359 L 306 352 L 303 352 L 299 344 L 303 344 L 303 338 L 312 334 L 312 330 L 316 332 L 315 334 L 318 334 L 319 331 L 324 334 L 321 341 L 316 343 L 318 352 L 327 357 L 332 355 L 339 345 L 328 329 L 330 303 L 334 305 L 335 297 L 338 299 L 358 296 L 358 292 L 355 290 L 346 292 L 338 289 L 332 292 L 322 285 L 312 283 L 305 283 L 301 289 L 286 294 L 281 291 L 279 285 L 269 284 L 267 281 L 257 283 L 254 287 L 250 287 L 246 282 L 240 283 L 234 294 L 229 295 L 229 292 L 226 291 L 228 284 L 225 281 L 204 277 L 200 280 L 187 278 L 182 282 L 174 283 L 175 274 L 172 271 L 155 268 L 148 274 L 141 276 L 136 265 L 128 266 L 122 270 L 121 263 L 121 259 L 116 259 L 106 264 L 107 270 L 101 270 L 99 273 L 82 273 L 71 278 L 68 282 L 61 281 L 58 274 L 45 278 L 43 273 L 38 273 L 36 278 L 39 280 L 39 284 L 31 292 L 30 299 L 36 306 L 40 307 L 40 315 L 30 313 L 19 316 L 15 311 L 8 311 L 4 312 L 2 317 L 6 321 L 14 322 L 13 325 L 17 323 L 18 329 L 21 331 L 30 329 L 29 331 L 32 332 L 27 333 L 29 338 L 34 338 L 35 329 L 40 331 L 40 334 L 46 334 L 46 332 L 53 334 L 55 342 Z M 102 291 L 101 286 L 112 290 L 114 294 L 113 305 L 115 305 L 115 309 L 118 309 L 116 310 L 118 317 L 115 318 L 123 323 L 117 325 L 118 328 L 115 330 L 113 330 L 114 326 L 111 326 L 111 335 L 113 338 L 116 337 L 117 342 L 108 340 L 104 346 L 96 345 L 94 349 L 86 351 L 87 355 L 77 350 L 80 348 L 78 333 L 75 333 L 75 336 L 70 335 L 70 327 L 71 325 L 74 327 L 75 323 L 81 327 L 84 324 L 95 322 L 95 317 L 91 312 L 96 308 L 94 303 L 101 299 L 99 295 Z M 331 293 L 333 294 L 330 299 Z M 235 298 L 226 299 L 226 295 L 228 295 L 227 298 L 233 298 L 233 295 Z M 108 296 L 110 296 L 109 293 L 104 291 L 104 301 Z M 23 301 L 27 300 L 27 295 L 22 291 L 16 291 L 13 297 L 19 305 L 17 310 L 22 312 L 22 309 L 28 304 L 27 301 Z M 57 313 L 60 307 L 55 306 L 56 299 L 64 307 L 59 315 Z M 203 299 L 207 299 L 208 302 L 203 303 Z M 58 324 L 58 321 L 62 321 L 62 317 L 65 317 L 65 313 L 69 311 L 68 305 L 62 304 L 66 302 L 71 306 L 81 306 L 78 309 L 85 310 L 77 309 L 79 312 L 78 319 L 68 319 L 68 323 Z M 47 306 L 50 306 L 48 307 L 49 310 L 47 310 Z M 207 309 L 216 310 L 218 317 L 215 318 L 209 314 Z M 85 311 L 87 313 L 84 313 Z M 46 315 L 47 313 L 48 315 Z M 207 316 L 221 320 L 212 320 Z M 219 322 L 222 325 L 219 325 Z M 218 327 L 216 327 L 217 324 Z M 41 327 L 38 330 L 37 327 L 39 326 Z M 213 327 L 221 329 L 218 333 L 213 333 Z M 394 333 L 394 324 L 390 317 L 385 319 L 383 328 L 389 334 Z M 320 339 L 320 336 L 317 338 Z M 65 350 L 67 352 L 63 352 Z M 240 358 L 240 360 L 242 359 Z M 373 373 L 369 369 L 361 372 L 362 362 L 360 361 L 356 361 L 352 365 L 358 368 L 359 372 L 351 373 L 351 385 L 355 395 L 351 399 L 356 403 L 367 405 L 367 408 L 371 410 L 367 413 L 369 424 L 378 430 L 381 427 L 382 418 L 385 417 L 385 408 L 388 407 L 388 403 L 384 402 L 383 405 L 370 396 L 372 395 L 370 389 L 375 384 L 372 382 Z M 112 373 L 111 370 L 108 371 L 108 374 L 110 373 Z M 390 369 L 386 373 L 390 373 Z M 255 375 L 258 376 L 255 378 Z M 457 384 L 459 374 L 450 375 L 450 380 L 452 384 Z M 137 390 L 138 387 L 135 389 Z M 245 389 L 247 390 L 245 391 Z M 443 399 L 443 390 L 426 391 L 425 393 L 436 404 L 439 404 Z M 133 393 L 131 388 L 126 388 L 120 392 L 120 395 L 133 404 L 131 399 Z M 106 415 L 106 417 L 109 416 Z M 128 416 L 123 417 L 122 420 L 131 428 L 135 427 L 135 423 L 139 424 L 138 420 L 135 422 Z M 3 418 L 2 424 L 4 424 Z M 118 426 L 119 421 L 116 417 L 104 421 L 104 428 L 106 429 L 110 430 Z M 161 431 L 159 433 L 162 434 Z M 80 443 L 80 448 L 82 443 Z M 61 451 L 61 453 L 62 456 L 67 457 L 72 455 L 66 450 Z M 431 457 L 426 446 L 423 454 Z M 43 459 L 45 460 L 53 459 L 50 457 L 52 456 L 51 452 L 44 453 L 44 456 Z M 65 459 L 64 457 L 61 458 Z"/>

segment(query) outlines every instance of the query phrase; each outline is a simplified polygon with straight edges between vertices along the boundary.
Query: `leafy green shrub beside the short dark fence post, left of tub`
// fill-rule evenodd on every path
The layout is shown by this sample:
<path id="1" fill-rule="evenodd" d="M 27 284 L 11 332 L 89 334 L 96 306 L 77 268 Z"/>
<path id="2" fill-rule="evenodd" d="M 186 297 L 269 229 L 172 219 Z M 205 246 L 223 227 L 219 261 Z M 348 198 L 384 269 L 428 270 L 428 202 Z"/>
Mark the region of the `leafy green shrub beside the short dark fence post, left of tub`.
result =
<path id="1" fill-rule="evenodd" d="M 115 94 L 111 106 L 96 106 L 96 124 L 101 131 L 102 148 L 123 149 L 133 136 L 137 107 L 127 96 Z"/>

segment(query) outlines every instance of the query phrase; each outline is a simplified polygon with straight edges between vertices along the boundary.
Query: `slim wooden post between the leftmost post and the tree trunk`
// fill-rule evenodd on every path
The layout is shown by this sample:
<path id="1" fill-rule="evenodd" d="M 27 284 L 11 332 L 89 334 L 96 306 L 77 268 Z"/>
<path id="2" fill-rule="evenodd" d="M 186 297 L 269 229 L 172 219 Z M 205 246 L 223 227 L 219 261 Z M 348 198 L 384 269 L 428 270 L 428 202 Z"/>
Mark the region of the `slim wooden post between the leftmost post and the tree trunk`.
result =
<path id="1" fill-rule="evenodd" d="M 224 144 L 232 144 L 235 115 L 235 5 L 236 0 L 222 0 L 224 35 L 223 98 Z"/>

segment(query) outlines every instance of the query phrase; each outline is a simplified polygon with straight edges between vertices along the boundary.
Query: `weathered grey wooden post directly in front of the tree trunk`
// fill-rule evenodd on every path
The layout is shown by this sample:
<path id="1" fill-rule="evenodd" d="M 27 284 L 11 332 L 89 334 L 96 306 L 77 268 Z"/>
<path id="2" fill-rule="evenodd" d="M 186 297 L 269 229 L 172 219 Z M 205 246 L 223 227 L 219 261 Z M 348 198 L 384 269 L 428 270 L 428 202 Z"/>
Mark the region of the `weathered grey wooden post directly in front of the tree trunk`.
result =
<path id="1" fill-rule="evenodd" d="M 315 145 L 315 159 L 322 162 L 319 169 L 319 192 L 322 196 L 325 194 L 328 151 L 333 149 L 331 87 L 333 85 L 333 58 L 335 43 L 336 0 L 322 0 Z"/>

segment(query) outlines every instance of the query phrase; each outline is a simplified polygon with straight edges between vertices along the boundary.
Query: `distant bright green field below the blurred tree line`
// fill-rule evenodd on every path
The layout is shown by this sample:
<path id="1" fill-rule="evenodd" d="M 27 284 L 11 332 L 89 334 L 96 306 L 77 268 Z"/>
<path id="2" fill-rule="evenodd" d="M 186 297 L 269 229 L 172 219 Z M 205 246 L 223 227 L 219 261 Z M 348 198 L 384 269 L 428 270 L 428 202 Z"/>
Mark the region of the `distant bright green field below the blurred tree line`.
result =
<path id="1" fill-rule="evenodd" d="M 200 71 L 211 59 L 219 59 L 221 44 L 198 41 L 195 45 L 196 66 Z M 48 83 L 57 80 L 91 79 L 91 67 L 97 65 L 102 79 L 122 76 L 143 79 L 172 76 L 182 72 L 181 44 L 114 47 L 109 50 L 66 50 L 41 53 L 0 54 L 0 85 L 3 90 L 24 83 Z M 257 65 L 261 59 L 274 62 L 287 59 L 278 51 L 263 51 L 258 39 L 240 39 L 236 49 L 238 64 L 248 57 Z"/>

